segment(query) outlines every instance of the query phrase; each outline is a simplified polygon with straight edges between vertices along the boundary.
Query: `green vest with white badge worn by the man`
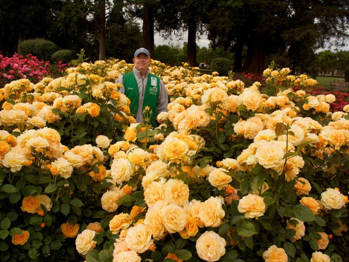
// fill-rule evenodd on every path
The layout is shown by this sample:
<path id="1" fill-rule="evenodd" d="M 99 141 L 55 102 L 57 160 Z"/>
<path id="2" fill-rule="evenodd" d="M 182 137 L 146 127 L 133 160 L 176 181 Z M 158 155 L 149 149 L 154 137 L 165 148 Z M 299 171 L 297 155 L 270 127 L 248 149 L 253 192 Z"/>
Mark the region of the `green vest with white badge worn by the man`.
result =
<path id="1" fill-rule="evenodd" d="M 136 77 L 133 72 L 123 74 L 123 81 L 125 87 L 125 95 L 131 101 L 130 111 L 131 114 L 137 115 L 139 107 L 139 89 Z M 150 123 L 153 127 L 158 126 L 157 116 L 158 116 L 158 98 L 160 92 L 160 79 L 156 75 L 148 74 L 147 85 L 144 91 L 143 98 L 143 110 L 146 106 L 150 107 L 153 114 L 150 116 Z M 149 116 L 149 115 L 148 115 Z M 143 115 L 144 118 L 144 115 Z"/>

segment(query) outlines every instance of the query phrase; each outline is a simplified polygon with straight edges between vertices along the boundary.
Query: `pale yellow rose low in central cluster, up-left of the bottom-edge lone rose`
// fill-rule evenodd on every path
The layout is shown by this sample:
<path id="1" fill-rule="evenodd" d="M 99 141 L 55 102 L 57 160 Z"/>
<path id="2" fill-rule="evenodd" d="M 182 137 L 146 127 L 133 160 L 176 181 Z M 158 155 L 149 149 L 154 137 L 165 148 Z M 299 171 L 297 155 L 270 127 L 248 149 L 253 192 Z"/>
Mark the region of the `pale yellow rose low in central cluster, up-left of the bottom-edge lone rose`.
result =
<path id="1" fill-rule="evenodd" d="M 128 229 L 125 241 L 127 247 L 131 250 L 144 253 L 153 244 L 154 239 L 152 239 L 152 235 L 146 225 L 138 224 Z"/>

